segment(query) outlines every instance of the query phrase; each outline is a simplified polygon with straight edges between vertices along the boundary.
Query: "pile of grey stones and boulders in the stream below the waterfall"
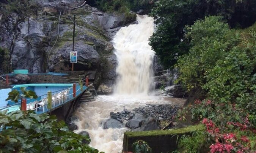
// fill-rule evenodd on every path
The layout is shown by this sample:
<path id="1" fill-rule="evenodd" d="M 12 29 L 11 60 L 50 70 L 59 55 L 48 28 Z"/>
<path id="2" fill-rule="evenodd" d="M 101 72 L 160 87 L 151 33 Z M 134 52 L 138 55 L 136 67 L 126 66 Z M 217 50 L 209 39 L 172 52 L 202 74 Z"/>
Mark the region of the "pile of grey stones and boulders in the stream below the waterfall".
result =
<path id="1" fill-rule="evenodd" d="M 133 131 L 157 130 L 166 126 L 176 115 L 178 106 L 152 105 L 138 107 L 131 111 L 110 112 L 110 119 L 104 123 L 104 129 L 128 127 Z"/>

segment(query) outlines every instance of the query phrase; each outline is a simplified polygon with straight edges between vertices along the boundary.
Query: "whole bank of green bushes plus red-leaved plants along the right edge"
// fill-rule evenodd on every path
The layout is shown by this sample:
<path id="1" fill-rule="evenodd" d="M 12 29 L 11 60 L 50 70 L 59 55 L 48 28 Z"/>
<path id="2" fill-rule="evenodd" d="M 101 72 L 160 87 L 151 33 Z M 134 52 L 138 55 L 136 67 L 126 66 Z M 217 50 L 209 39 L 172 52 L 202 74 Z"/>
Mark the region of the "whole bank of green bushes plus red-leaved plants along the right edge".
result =
<path id="1" fill-rule="evenodd" d="M 220 17 L 210 16 L 186 27 L 186 31 L 191 47 L 176 64 L 179 81 L 188 89 L 202 88 L 207 99 L 197 99 L 194 105 L 179 110 L 177 118 L 182 119 L 181 114 L 188 109 L 192 119 L 203 119 L 203 138 L 212 144 L 212 153 L 255 150 L 256 23 L 245 30 L 234 30 Z M 181 142 L 194 139 L 196 136 Z M 198 146 L 186 148 L 198 151 Z"/>

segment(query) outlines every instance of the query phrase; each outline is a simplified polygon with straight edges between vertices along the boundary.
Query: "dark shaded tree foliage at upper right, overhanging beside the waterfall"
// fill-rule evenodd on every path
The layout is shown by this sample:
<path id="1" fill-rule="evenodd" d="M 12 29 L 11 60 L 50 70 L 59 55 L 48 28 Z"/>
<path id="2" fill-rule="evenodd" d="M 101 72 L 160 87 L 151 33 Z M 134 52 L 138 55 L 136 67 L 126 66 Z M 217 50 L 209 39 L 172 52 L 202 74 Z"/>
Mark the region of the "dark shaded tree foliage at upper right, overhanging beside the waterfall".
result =
<path id="1" fill-rule="evenodd" d="M 256 21 L 256 1 L 159 0 L 150 15 L 157 28 L 149 44 L 164 66 L 171 67 L 189 50 L 190 40 L 184 35 L 186 25 L 205 16 L 221 15 L 231 27 L 248 27 Z"/>

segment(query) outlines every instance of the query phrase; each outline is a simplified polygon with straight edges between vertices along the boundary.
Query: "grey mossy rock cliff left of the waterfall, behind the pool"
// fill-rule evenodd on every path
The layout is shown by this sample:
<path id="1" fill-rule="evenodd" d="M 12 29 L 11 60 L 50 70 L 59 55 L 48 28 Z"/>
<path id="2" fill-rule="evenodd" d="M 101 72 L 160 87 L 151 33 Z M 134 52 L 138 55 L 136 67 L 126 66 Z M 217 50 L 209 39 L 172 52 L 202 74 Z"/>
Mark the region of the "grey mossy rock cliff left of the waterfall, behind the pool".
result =
<path id="1" fill-rule="evenodd" d="M 115 81 L 116 57 L 110 42 L 112 32 L 136 20 L 126 19 L 124 14 L 107 14 L 84 5 L 84 0 L 36 0 L 40 10 L 37 16 L 27 17 L 18 24 L 17 35 L 13 37 L 13 25 L 17 15 L 13 13 L 6 20 L 0 20 L 0 46 L 10 49 L 13 45 L 11 63 L 13 69 L 28 69 L 30 73 L 44 73 L 54 70 L 71 70 L 73 15 L 76 15 L 75 51 L 78 59 L 75 70 L 91 70 L 96 75 L 91 79 L 96 87 L 110 86 Z M 58 19 L 60 16 L 60 26 Z M 1 15 L 1 14 L 0 14 Z M 58 40 L 55 43 L 55 40 Z M 49 58 L 48 58 L 49 56 Z"/>

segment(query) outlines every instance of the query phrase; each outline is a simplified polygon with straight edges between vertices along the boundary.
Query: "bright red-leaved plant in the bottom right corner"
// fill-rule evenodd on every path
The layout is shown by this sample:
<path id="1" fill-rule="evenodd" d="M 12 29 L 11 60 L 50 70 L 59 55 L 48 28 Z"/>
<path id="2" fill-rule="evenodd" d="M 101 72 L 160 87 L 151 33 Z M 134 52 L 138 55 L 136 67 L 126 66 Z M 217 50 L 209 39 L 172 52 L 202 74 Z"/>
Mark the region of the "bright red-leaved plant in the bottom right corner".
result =
<path id="1" fill-rule="evenodd" d="M 236 127 L 226 127 L 225 129 L 219 129 L 216 124 L 207 118 L 202 120 L 202 123 L 206 126 L 208 138 L 212 141 L 210 145 L 210 153 L 231 153 L 231 152 L 252 152 L 255 150 L 255 133 L 250 129 L 243 129 L 243 124 L 229 122 L 229 125 L 236 125 Z M 227 132 L 234 133 L 227 133 Z M 250 135 L 253 139 L 251 143 L 250 139 L 245 136 Z M 251 146 L 253 144 L 253 146 Z"/>

